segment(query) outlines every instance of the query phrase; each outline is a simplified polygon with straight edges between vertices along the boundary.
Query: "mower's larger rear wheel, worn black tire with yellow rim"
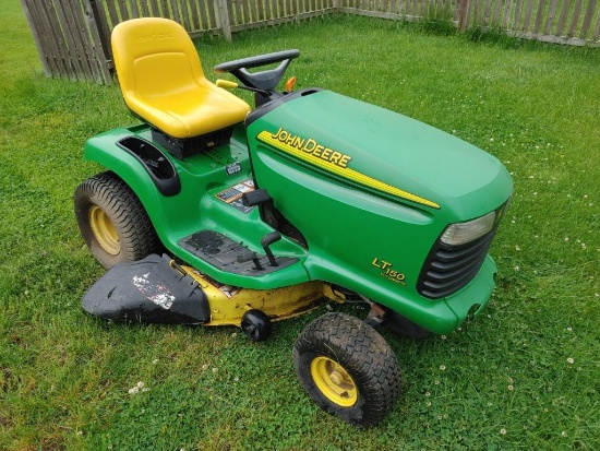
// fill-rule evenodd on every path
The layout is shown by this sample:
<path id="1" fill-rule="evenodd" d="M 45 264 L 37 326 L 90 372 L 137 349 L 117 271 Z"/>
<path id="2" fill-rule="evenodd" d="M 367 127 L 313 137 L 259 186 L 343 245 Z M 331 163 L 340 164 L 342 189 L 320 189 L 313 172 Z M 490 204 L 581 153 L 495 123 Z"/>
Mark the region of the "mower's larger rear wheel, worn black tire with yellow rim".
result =
<path id="1" fill-rule="evenodd" d="M 92 254 L 105 268 L 160 251 L 160 241 L 135 193 L 113 173 L 83 181 L 75 217 Z"/>

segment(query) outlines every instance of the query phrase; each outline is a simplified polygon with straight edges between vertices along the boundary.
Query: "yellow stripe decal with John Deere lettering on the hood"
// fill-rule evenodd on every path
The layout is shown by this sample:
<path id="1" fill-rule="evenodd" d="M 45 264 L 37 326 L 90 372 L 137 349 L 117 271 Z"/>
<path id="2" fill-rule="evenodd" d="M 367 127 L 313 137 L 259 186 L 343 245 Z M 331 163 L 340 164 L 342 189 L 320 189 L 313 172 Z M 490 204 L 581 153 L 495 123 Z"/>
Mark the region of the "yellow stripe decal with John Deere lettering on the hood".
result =
<path id="1" fill-rule="evenodd" d="M 284 133 L 285 135 L 281 137 L 281 134 Z M 277 137 L 288 139 L 281 140 L 277 139 Z M 339 176 L 341 178 L 355 181 L 359 185 L 372 188 L 381 192 L 385 192 L 387 194 L 420 203 L 422 205 L 431 206 L 433 209 L 440 209 L 440 205 L 435 202 L 423 199 L 419 195 L 412 194 L 408 191 L 404 191 L 399 188 L 393 187 L 392 185 L 387 185 L 381 180 L 376 180 L 372 177 L 365 176 L 364 174 L 350 169 L 349 167 L 347 167 L 347 164 L 351 161 L 351 157 L 349 155 L 343 155 L 329 149 L 324 149 L 323 146 L 317 145 L 316 142 L 312 139 L 307 140 L 299 137 L 289 135 L 281 129 L 279 129 L 276 134 L 264 130 L 260 132 L 256 138 L 260 141 L 278 149 L 279 151 L 283 151 L 289 155 L 308 162 L 321 169 L 335 174 L 336 176 Z M 310 142 L 314 143 L 312 147 L 309 147 Z M 321 152 L 317 152 L 317 155 L 313 153 L 316 147 L 321 147 Z"/>

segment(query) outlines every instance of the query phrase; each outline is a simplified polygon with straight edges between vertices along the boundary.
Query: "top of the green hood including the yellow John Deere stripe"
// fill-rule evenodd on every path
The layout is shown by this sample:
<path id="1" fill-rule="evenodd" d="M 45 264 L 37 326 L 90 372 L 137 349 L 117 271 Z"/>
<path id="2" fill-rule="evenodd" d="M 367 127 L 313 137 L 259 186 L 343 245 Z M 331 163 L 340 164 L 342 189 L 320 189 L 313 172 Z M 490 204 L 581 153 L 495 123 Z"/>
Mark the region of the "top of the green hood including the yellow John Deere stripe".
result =
<path id="1" fill-rule="evenodd" d="M 488 213 L 490 204 L 499 206 L 512 190 L 509 175 L 492 155 L 415 119 L 331 91 L 283 103 L 249 132 L 345 182 L 400 202 L 449 209 L 466 219 Z"/>

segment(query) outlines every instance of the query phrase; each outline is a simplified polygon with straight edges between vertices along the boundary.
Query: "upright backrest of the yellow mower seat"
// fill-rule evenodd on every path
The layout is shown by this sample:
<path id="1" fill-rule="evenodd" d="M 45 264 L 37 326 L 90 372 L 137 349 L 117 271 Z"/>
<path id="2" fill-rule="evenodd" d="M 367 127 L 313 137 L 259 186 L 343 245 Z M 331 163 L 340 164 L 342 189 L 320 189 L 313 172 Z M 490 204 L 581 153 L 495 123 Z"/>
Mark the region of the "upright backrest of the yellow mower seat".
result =
<path id="1" fill-rule="evenodd" d="M 121 92 L 134 111 L 135 97 L 151 99 L 185 92 L 205 79 L 192 39 L 168 19 L 121 22 L 112 31 L 111 46 Z"/>

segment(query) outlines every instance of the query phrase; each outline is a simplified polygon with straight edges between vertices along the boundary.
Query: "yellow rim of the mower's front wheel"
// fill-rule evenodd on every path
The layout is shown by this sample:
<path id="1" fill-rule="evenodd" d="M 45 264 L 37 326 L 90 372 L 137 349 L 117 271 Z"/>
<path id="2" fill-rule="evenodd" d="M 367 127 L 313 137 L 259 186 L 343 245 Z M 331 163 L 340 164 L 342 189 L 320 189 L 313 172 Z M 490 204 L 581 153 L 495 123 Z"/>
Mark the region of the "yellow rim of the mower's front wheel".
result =
<path id="1" fill-rule="evenodd" d="M 358 400 L 352 377 L 337 361 L 328 357 L 316 357 L 311 363 L 311 376 L 321 393 L 341 407 L 350 407 Z"/>

